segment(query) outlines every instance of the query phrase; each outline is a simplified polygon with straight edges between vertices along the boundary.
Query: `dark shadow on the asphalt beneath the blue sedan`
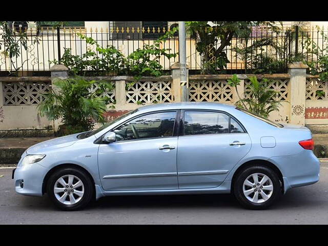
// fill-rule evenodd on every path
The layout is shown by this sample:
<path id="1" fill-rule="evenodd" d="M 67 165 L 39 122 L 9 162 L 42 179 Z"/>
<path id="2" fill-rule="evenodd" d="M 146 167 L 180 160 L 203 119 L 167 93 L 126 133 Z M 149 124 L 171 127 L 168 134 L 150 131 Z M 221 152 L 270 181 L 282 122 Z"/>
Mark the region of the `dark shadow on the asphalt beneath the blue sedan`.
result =
<path id="1" fill-rule="evenodd" d="M 22 197 L 21 199 L 22 206 L 28 210 L 56 210 L 47 195 L 44 197 Z M 304 190 L 304 188 L 297 188 L 281 196 L 280 199 L 270 207 L 270 210 L 302 207 L 311 208 L 317 207 L 321 203 L 326 204 L 326 201 L 314 201 L 311 198 L 311 192 Z M 85 210 L 133 208 L 229 208 L 243 210 L 231 194 L 107 196 L 93 202 L 90 206 L 85 208 Z"/>

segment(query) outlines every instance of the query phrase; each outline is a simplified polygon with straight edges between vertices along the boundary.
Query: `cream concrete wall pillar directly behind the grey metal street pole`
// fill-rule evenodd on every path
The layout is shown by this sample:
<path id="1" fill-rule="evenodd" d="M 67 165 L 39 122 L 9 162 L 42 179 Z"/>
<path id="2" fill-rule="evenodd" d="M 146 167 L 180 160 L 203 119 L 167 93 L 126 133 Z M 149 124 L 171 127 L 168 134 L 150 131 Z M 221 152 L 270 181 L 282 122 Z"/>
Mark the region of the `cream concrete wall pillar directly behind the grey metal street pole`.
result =
<path id="1" fill-rule="evenodd" d="M 188 101 L 189 99 L 189 66 L 186 66 L 187 73 L 187 86 L 180 85 L 180 64 L 174 63 L 170 66 L 172 74 L 172 94 L 174 103 L 181 101 Z"/>

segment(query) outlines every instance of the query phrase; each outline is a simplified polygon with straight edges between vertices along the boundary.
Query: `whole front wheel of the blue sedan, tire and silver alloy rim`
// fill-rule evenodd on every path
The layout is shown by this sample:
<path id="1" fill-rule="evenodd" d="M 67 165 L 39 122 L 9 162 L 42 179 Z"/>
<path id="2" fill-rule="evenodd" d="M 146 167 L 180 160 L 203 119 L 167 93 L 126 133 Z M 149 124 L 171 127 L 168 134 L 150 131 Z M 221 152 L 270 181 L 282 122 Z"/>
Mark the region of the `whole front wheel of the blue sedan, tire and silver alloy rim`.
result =
<path id="1" fill-rule="evenodd" d="M 73 211 L 82 209 L 90 203 L 94 188 L 92 180 L 84 171 L 64 168 L 49 177 L 47 193 L 56 207 Z"/>

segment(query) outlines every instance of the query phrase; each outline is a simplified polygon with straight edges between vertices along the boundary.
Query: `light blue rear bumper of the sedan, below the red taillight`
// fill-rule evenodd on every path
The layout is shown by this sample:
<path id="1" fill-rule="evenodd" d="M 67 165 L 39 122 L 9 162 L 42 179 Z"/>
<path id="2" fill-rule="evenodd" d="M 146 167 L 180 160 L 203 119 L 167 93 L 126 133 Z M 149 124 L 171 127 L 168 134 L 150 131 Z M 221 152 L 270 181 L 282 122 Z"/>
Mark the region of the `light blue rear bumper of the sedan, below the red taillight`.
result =
<path id="1" fill-rule="evenodd" d="M 311 150 L 298 155 L 276 156 L 271 158 L 280 169 L 284 193 L 291 188 L 309 186 L 319 181 L 320 161 Z"/>

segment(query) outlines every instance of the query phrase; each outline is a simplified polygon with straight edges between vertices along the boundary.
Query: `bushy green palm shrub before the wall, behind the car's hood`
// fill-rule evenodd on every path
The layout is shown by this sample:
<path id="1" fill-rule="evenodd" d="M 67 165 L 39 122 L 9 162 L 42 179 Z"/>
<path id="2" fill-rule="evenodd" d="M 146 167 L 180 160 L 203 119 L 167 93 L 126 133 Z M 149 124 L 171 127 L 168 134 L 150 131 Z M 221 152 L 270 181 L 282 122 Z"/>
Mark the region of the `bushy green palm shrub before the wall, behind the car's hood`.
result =
<path id="1" fill-rule="evenodd" d="M 112 83 L 97 82 L 98 89 L 91 92 L 95 80 L 87 81 L 81 77 L 56 80 L 45 100 L 38 105 L 41 116 L 49 120 L 61 119 L 64 134 L 90 131 L 96 122 L 105 122 L 106 105 L 111 101 L 108 97 L 99 96 L 113 90 Z"/>

